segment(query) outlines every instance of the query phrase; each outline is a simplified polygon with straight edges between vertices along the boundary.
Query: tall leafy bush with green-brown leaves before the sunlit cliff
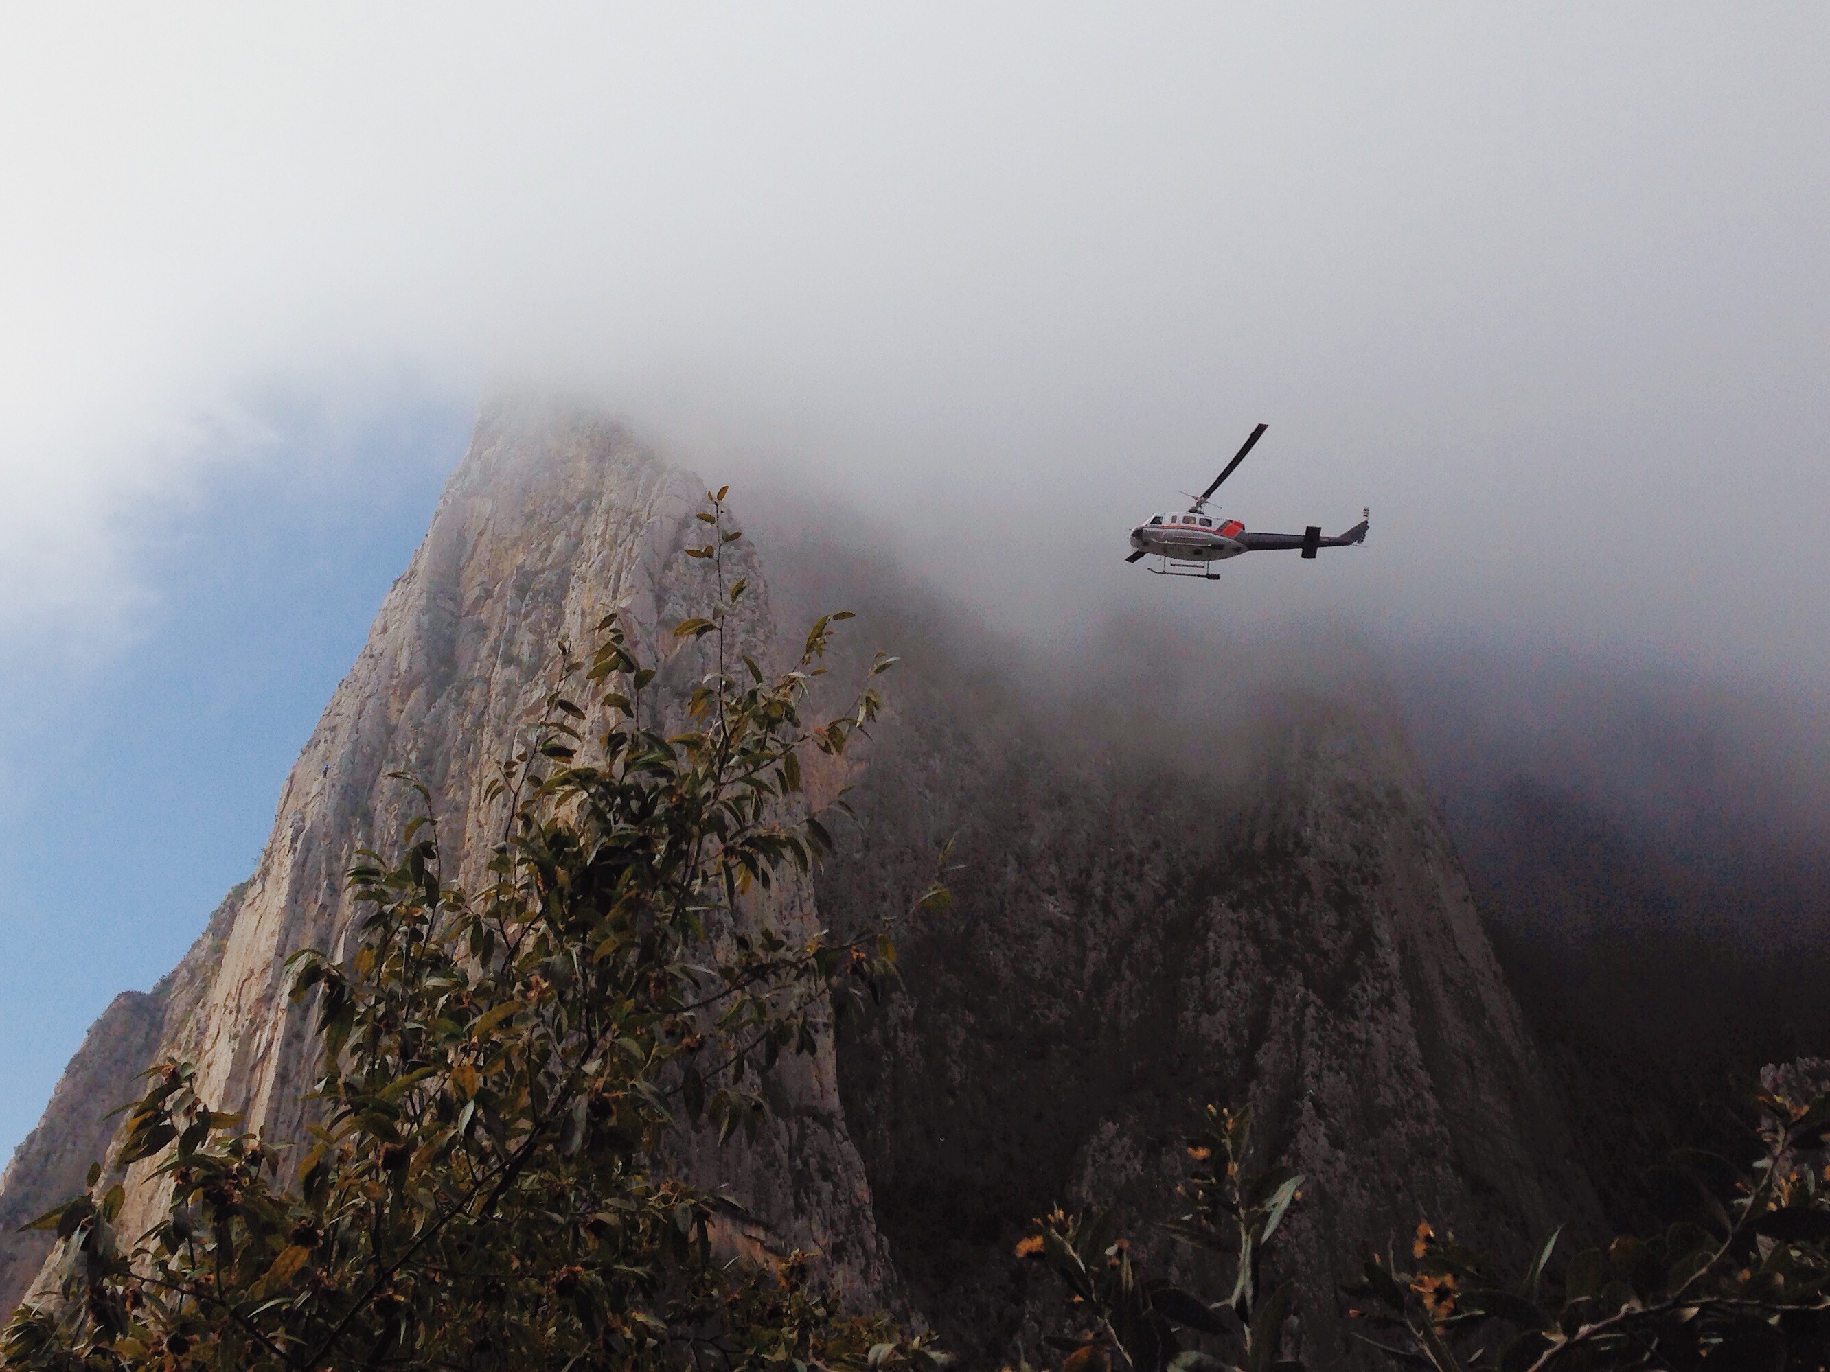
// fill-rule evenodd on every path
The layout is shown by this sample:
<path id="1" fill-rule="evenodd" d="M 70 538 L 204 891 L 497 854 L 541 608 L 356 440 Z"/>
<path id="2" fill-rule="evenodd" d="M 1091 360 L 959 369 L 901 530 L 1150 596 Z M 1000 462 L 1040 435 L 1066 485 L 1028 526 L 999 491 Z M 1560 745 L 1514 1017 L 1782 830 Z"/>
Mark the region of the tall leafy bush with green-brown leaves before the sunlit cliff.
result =
<path id="1" fill-rule="evenodd" d="M 346 959 L 293 960 L 324 1077 L 302 1149 L 240 1131 L 165 1063 L 117 1167 L 168 1185 L 143 1237 L 123 1189 L 51 1211 L 60 1301 L 0 1335 L 9 1368 L 930 1368 L 884 1319 L 847 1317 L 805 1253 L 734 1257 L 739 1207 L 670 1174 L 684 1127 L 756 1136 L 761 1083 L 895 975 L 882 931 L 791 942 L 761 895 L 827 845 L 791 818 L 807 746 L 842 752 L 873 688 L 807 724 L 833 620 L 780 679 L 727 670 L 723 492 L 699 518 L 717 604 L 684 730 L 659 732 L 615 616 L 565 660 L 545 719 L 492 790 L 509 821 L 489 884 L 443 880 L 437 829 L 350 882 Z M 888 660 L 878 659 L 873 675 Z M 586 737 L 571 695 L 613 723 Z M 651 691 L 650 691 L 651 695 Z M 421 796 L 425 792 L 421 790 Z M 928 902 L 942 902 L 935 887 Z M 302 1152 L 302 1156 L 300 1156 Z M 677 1154 L 675 1154 L 677 1156 Z"/>

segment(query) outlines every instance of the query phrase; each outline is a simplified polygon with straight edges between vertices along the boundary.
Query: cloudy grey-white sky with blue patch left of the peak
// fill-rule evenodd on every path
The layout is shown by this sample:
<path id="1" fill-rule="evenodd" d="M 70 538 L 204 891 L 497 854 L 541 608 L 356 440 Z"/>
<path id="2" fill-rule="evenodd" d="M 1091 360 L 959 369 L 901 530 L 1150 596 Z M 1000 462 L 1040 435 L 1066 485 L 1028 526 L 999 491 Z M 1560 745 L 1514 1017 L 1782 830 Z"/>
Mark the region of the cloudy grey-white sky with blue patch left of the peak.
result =
<path id="1" fill-rule="evenodd" d="M 1821 5 L 0 16 L 0 1149 L 253 867 L 476 404 L 1160 609 L 1823 701 Z M 1197 485 L 1199 483 L 1199 485 Z M 1345 554 L 1343 554 L 1345 556 Z"/>

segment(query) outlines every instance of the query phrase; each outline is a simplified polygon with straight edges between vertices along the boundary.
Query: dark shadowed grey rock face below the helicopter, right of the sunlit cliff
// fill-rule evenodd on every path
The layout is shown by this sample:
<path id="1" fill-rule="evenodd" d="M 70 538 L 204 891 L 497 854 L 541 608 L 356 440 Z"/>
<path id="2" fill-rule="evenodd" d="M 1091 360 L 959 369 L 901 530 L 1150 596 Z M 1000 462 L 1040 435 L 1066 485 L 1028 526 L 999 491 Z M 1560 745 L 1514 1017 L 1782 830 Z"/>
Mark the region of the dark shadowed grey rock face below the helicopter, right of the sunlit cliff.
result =
<path id="1" fill-rule="evenodd" d="M 1118 1206 L 1151 1260 L 1226 1295 L 1153 1242 L 1200 1101 L 1250 1103 L 1266 1156 L 1308 1176 L 1276 1266 L 1310 1367 L 1362 1361 L 1334 1297 L 1362 1240 L 1427 1215 L 1523 1264 L 1594 1222 L 1389 713 L 1272 691 L 1226 766 L 1199 730 L 1177 757 L 911 659 L 818 900 L 840 926 L 880 909 L 953 836 L 955 906 L 904 933 L 908 993 L 847 1032 L 840 1094 L 911 1301 L 968 1359 L 1072 1326 L 1012 1257 L 1061 1200 Z"/>

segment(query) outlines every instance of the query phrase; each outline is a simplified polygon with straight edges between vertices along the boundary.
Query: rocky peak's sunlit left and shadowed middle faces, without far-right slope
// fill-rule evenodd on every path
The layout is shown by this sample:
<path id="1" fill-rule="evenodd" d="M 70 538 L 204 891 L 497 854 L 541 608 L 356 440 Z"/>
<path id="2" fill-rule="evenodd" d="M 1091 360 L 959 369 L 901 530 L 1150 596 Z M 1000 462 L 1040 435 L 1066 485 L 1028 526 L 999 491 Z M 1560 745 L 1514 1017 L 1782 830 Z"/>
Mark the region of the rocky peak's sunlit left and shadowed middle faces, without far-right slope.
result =
<path id="1" fill-rule="evenodd" d="M 282 966 L 344 937 L 350 854 L 408 812 L 386 774 L 426 783 L 447 860 L 474 878 L 503 820 L 485 787 L 549 688 L 554 642 L 591 642 L 624 604 L 655 657 L 655 626 L 703 604 L 703 567 L 683 556 L 697 494 L 613 424 L 485 413 L 287 779 L 254 876 L 170 984 L 110 1008 L 137 1030 L 92 1034 L 7 1171 L 7 1215 L 81 1185 L 101 1116 L 156 1054 L 196 1061 L 220 1109 L 298 1134 L 315 1063 Z M 780 545 L 770 571 L 820 582 L 807 563 L 827 551 Z M 739 558 L 752 585 L 739 635 L 776 659 L 761 567 Z M 910 664 L 853 761 L 860 825 L 774 913 L 811 929 L 902 909 L 948 834 L 957 904 L 904 929 L 906 995 L 778 1081 L 759 1147 L 695 1147 L 695 1174 L 730 1182 L 781 1242 L 824 1251 L 860 1302 L 906 1292 L 972 1361 L 1052 1317 L 1052 1292 L 1008 1257 L 1032 1215 L 1118 1204 L 1149 1242 L 1204 1099 L 1250 1101 L 1265 1143 L 1310 1176 L 1285 1262 L 1316 1367 L 1347 1359 L 1332 1284 L 1354 1240 L 1407 1235 L 1427 1213 L 1504 1251 L 1592 1217 L 1382 708 L 1259 691 L 1226 739 L 1166 750 L 1120 724 L 1085 728 L 944 607 L 877 580 L 855 637 Z M 679 657 L 664 681 L 695 670 Z M 86 1057 L 101 1043 L 113 1046 Z M 126 1229 L 157 1204 L 143 1176 L 130 1193 Z M 4 1260 L 11 1301 L 35 1259 L 15 1246 Z"/>

